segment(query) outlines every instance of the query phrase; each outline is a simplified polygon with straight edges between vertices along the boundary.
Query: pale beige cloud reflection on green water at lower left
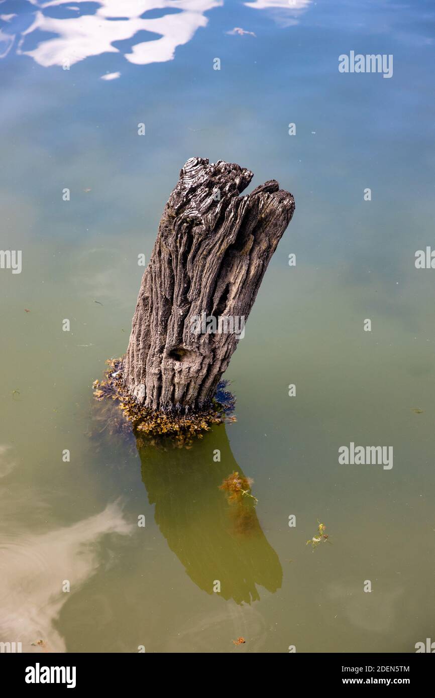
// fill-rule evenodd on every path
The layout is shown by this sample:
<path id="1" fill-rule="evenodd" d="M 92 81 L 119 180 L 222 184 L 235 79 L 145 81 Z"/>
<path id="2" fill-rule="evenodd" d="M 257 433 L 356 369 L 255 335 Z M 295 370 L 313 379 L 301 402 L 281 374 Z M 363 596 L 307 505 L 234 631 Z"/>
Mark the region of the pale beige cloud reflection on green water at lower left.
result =
<path id="1" fill-rule="evenodd" d="M 8 533 L 0 540 L 0 637 L 4 642 L 21 642 L 23 652 L 39 652 L 32 646 L 38 639 L 47 651 L 66 651 L 64 638 L 54 628 L 69 593 L 98 569 L 96 543 L 106 533 L 131 533 L 115 503 L 103 512 L 50 533 Z"/>

